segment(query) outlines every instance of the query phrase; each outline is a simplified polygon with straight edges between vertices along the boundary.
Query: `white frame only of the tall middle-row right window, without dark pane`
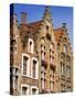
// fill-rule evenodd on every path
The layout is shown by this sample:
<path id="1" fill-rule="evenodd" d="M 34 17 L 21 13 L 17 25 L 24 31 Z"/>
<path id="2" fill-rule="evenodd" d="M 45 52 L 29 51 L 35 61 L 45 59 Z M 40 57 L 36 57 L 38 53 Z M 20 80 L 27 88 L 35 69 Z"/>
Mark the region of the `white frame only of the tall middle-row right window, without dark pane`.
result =
<path id="1" fill-rule="evenodd" d="M 33 61 L 35 61 L 36 62 L 36 66 L 35 66 L 35 77 L 33 77 Z M 39 79 L 39 61 L 35 58 L 35 57 L 32 57 L 31 58 L 31 77 L 32 78 L 35 78 L 35 79 Z"/>

